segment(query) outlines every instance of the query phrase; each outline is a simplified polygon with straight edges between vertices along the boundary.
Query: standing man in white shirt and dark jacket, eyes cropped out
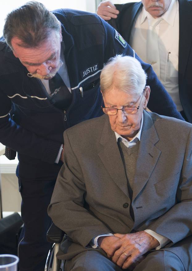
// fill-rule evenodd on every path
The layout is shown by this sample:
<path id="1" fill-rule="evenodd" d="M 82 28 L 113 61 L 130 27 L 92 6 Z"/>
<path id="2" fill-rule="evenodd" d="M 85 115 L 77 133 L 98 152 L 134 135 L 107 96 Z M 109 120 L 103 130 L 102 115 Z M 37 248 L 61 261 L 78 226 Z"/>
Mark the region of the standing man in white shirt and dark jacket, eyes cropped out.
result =
<path id="1" fill-rule="evenodd" d="M 120 12 L 119 12 L 120 11 Z M 183 117 L 192 123 L 192 1 L 101 2 L 97 14 L 114 26 L 144 61 L 150 63 Z M 119 14 L 119 15 L 118 15 Z"/>

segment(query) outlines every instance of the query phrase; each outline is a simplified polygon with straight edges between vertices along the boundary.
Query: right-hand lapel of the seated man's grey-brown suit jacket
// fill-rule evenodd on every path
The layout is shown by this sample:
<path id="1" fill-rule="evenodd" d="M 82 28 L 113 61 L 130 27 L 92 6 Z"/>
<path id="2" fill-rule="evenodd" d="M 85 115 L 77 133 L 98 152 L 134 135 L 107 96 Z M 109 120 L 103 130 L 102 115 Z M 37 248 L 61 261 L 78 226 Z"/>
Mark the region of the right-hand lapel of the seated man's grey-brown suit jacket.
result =
<path id="1" fill-rule="evenodd" d="M 161 151 L 155 146 L 159 141 L 157 131 L 154 127 L 151 116 L 144 111 L 143 127 L 141 132 L 140 146 L 136 163 L 136 171 L 133 187 L 134 201 L 151 176 Z"/>

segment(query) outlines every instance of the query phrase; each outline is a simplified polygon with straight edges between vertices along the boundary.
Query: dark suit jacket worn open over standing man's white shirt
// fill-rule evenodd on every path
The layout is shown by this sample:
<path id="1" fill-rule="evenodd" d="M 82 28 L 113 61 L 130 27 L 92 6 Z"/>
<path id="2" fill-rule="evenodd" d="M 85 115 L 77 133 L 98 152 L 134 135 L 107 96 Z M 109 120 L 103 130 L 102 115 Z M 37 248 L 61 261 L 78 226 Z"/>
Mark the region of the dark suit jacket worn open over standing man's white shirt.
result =
<path id="1" fill-rule="evenodd" d="M 192 1 L 179 2 L 179 96 L 183 110 L 192 123 Z M 131 28 L 136 15 L 141 11 L 141 2 L 115 5 L 120 11 L 117 19 L 109 23 L 119 31 L 129 43 Z"/>

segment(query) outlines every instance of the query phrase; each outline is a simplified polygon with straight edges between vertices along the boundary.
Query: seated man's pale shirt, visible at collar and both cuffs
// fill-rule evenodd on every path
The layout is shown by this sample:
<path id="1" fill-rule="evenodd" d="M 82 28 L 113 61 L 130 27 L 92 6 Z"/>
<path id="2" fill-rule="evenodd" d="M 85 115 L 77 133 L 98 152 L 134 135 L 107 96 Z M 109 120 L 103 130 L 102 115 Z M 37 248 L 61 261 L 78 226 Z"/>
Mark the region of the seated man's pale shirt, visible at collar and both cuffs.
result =
<path id="1" fill-rule="evenodd" d="M 128 141 L 124 137 L 120 136 L 117 132 L 115 132 L 116 140 L 118 141 L 118 139 L 120 138 L 122 140 L 123 144 L 127 148 L 131 148 L 131 147 L 135 146 L 138 141 L 140 141 L 142 127 L 143 127 L 143 115 L 142 115 L 142 119 L 141 119 L 141 125 L 140 125 L 139 131 L 137 132 L 136 136 L 134 136 L 130 141 Z M 148 230 L 148 229 L 146 229 L 144 231 L 146 231 L 148 234 L 150 234 L 151 236 L 156 238 L 157 241 L 159 241 L 160 245 L 156 249 L 160 249 L 160 248 L 164 247 L 170 241 L 168 238 L 156 233 L 155 231 Z M 92 248 L 97 248 L 98 247 L 97 240 L 101 236 L 113 236 L 113 234 L 111 232 L 109 232 L 109 233 L 101 234 L 99 236 L 94 237 L 90 242 L 90 245 L 92 246 Z"/>

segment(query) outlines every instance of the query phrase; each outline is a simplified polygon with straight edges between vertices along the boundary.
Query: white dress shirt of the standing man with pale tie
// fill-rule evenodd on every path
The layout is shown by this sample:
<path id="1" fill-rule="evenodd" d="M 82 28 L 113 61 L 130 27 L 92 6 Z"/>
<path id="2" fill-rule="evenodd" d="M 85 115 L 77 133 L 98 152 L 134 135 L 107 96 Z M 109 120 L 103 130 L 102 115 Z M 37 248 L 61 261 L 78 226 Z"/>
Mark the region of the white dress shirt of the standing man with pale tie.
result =
<path id="1" fill-rule="evenodd" d="M 131 30 L 129 44 L 144 62 L 147 62 L 148 19 L 152 18 L 143 7 L 136 16 Z M 160 59 L 159 80 L 171 95 L 177 110 L 182 111 L 178 86 L 179 4 L 177 0 L 171 1 L 169 8 L 161 18 L 163 20 L 156 27 Z"/>

